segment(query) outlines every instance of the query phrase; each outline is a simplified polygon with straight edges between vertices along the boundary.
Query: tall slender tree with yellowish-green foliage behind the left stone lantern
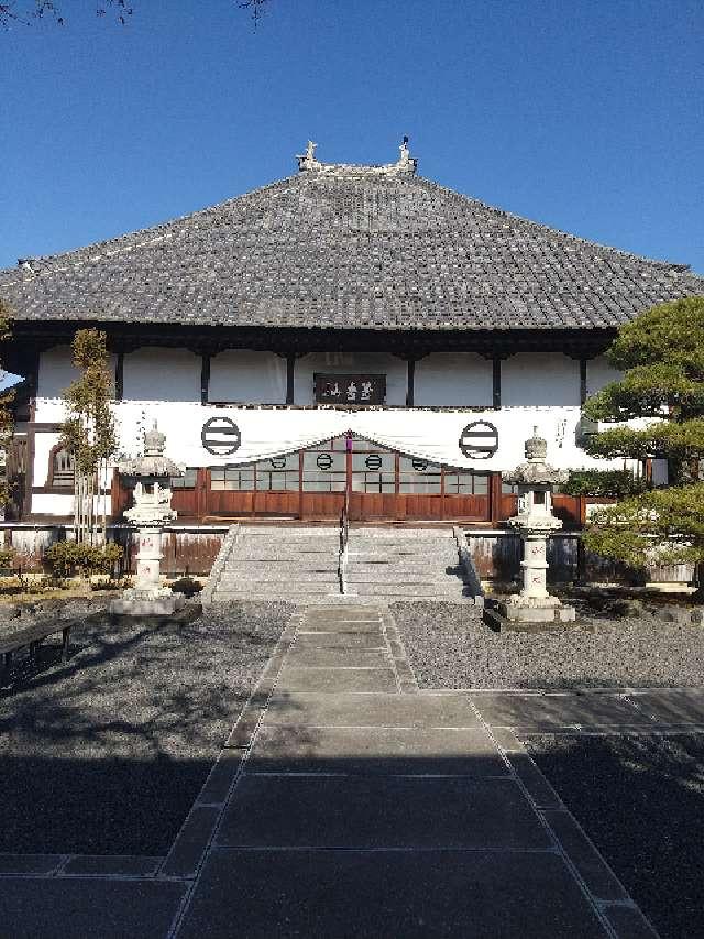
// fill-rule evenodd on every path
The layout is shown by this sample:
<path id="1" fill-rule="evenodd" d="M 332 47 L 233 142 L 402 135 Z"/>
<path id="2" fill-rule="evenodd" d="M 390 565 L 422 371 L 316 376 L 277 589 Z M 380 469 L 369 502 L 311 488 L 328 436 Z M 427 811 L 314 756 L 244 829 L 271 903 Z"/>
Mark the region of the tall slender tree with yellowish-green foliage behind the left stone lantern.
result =
<path id="1" fill-rule="evenodd" d="M 62 445 L 75 467 L 74 525 L 77 542 L 95 543 L 96 494 L 108 484 L 108 462 L 117 448 L 114 417 L 110 408 L 112 372 L 107 336 L 97 329 L 79 329 L 73 341 L 74 365 L 81 375 L 64 392 L 67 418 L 62 424 Z M 107 496 L 102 495 L 102 532 L 106 534 Z"/>

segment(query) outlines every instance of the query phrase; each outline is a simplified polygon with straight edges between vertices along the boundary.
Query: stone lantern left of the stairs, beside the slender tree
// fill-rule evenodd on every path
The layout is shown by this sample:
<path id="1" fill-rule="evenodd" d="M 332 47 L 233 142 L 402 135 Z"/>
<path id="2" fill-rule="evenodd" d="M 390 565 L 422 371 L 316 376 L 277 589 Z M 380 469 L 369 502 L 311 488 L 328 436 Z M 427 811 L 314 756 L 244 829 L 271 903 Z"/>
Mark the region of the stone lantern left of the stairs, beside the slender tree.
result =
<path id="1" fill-rule="evenodd" d="M 134 485 L 134 505 L 124 514 L 139 531 L 136 582 L 119 600 L 110 604 L 111 613 L 146 616 L 164 615 L 179 610 L 186 602 L 183 593 L 173 593 L 160 582 L 162 529 L 176 517 L 172 509 L 170 479 L 183 476 L 180 467 L 164 456 L 166 436 L 154 427 L 144 435 L 144 456 L 124 460 L 118 467 L 121 476 Z"/>

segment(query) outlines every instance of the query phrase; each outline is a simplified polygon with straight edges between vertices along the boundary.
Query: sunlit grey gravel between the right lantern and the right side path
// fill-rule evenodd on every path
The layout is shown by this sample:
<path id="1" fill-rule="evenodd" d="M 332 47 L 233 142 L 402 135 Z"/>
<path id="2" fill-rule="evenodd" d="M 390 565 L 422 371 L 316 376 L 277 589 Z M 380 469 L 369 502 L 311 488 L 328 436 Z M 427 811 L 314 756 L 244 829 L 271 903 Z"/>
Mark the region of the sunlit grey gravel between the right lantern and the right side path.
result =
<path id="1" fill-rule="evenodd" d="M 701 686 L 704 627 L 582 615 L 579 625 L 492 632 L 472 604 L 395 603 L 421 688 Z"/>

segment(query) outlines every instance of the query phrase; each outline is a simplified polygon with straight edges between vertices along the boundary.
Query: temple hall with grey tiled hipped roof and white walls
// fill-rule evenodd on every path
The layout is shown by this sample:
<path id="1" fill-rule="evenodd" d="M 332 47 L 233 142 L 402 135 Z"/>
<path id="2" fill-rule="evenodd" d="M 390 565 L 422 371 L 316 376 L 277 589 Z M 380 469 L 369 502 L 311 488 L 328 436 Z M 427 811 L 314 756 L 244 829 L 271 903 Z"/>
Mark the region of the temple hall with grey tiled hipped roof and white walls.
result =
<path id="1" fill-rule="evenodd" d="M 80 328 L 108 335 L 116 467 L 156 422 L 185 470 L 182 520 L 337 520 L 346 504 L 360 521 L 496 525 L 516 504 L 501 473 L 534 427 L 552 465 L 604 466 L 581 404 L 615 378 L 605 350 L 642 310 L 702 294 L 686 265 L 424 178 L 406 141 L 383 165 L 324 163 L 310 143 L 252 193 L 0 271 L 4 364 L 25 376 L 9 516 L 73 517 L 61 394 Z M 106 485 L 117 521 L 129 494 L 117 472 Z"/>

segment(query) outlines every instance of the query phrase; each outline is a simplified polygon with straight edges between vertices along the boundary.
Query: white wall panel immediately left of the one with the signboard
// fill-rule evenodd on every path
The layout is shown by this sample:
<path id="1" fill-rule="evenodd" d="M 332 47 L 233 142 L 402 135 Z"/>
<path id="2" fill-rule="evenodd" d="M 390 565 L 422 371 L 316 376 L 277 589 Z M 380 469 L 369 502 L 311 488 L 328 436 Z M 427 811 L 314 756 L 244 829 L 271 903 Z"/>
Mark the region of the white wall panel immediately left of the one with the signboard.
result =
<path id="1" fill-rule="evenodd" d="M 227 349 L 210 360 L 210 401 L 286 403 L 286 359 L 274 352 Z"/>

